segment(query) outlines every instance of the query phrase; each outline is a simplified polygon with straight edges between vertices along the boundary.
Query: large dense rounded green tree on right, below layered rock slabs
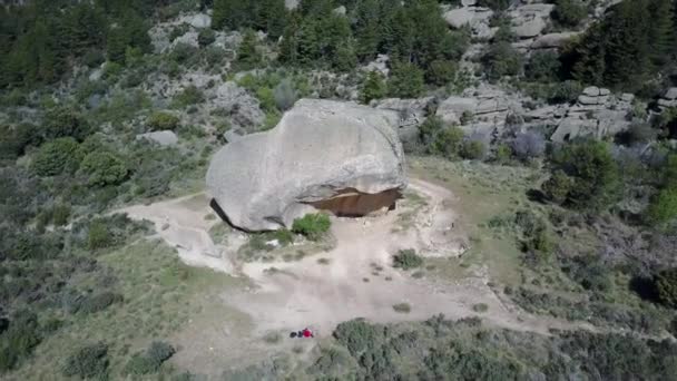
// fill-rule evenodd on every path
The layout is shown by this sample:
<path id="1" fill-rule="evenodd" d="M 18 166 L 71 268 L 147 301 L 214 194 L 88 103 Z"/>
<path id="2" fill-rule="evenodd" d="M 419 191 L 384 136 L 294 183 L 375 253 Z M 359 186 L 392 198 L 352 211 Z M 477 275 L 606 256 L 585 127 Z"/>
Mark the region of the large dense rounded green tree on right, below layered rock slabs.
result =
<path id="1" fill-rule="evenodd" d="M 552 160 L 555 169 L 563 170 L 573 180 L 567 195 L 573 206 L 601 209 L 617 199 L 619 168 L 608 144 L 572 143 L 556 152 Z"/>

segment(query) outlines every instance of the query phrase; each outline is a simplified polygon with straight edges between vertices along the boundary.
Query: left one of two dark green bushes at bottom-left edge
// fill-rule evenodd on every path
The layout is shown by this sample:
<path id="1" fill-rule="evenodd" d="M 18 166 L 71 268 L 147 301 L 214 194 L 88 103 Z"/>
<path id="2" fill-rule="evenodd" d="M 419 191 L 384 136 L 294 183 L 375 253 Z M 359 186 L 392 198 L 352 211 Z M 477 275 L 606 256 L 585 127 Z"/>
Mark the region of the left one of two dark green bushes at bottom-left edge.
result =
<path id="1" fill-rule="evenodd" d="M 67 359 L 61 369 L 66 377 L 80 379 L 106 379 L 108 375 L 108 345 L 96 343 L 85 345 Z"/>

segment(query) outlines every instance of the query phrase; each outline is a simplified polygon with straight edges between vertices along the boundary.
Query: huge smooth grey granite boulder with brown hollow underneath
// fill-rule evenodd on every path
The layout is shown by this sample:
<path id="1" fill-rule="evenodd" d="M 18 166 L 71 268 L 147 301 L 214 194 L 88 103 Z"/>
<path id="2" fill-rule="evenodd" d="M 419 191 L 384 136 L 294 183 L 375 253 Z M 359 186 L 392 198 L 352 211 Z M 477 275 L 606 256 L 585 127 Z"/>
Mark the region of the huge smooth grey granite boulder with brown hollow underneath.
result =
<path id="1" fill-rule="evenodd" d="M 364 215 L 394 206 L 404 154 L 391 113 L 302 99 L 272 130 L 223 147 L 207 186 L 223 215 L 246 231 L 290 227 L 316 208 Z"/>

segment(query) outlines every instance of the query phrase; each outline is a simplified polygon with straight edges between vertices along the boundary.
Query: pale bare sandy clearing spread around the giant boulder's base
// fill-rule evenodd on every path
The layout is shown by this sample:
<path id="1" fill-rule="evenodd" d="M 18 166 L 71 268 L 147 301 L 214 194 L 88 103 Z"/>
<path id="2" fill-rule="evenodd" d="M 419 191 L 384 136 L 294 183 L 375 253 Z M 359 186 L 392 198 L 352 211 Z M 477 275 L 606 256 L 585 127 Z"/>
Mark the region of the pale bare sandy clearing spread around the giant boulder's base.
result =
<path id="1" fill-rule="evenodd" d="M 183 349 L 174 361 L 200 373 L 216 374 L 224 367 L 261 361 L 285 348 L 303 345 L 310 350 L 312 341 L 288 340 L 288 332 L 310 326 L 320 338 L 327 336 L 336 324 L 354 318 L 386 323 L 424 320 L 439 313 L 450 319 L 477 315 L 491 325 L 543 334 L 551 328 L 582 326 L 530 315 L 501 300 L 488 286 L 487 266 L 475 268 L 472 277 L 444 281 L 393 268 L 392 255 L 401 248 L 447 256 L 460 255 L 467 248 L 454 213 L 460 201 L 450 190 L 413 178 L 408 192 L 424 202 L 404 199 L 394 212 L 374 217 L 332 218 L 335 247 L 297 262 L 234 263 L 230 258 L 246 236 L 232 232 L 228 246 L 216 245 L 207 232 L 222 222 L 205 218 L 212 211 L 204 194 L 118 212 L 155 223 L 158 235 L 177 247 L 186 263 L 244 275 L 255 284 L 209 296 L 212 307 L 196 313 L 177 333 L 175 340 Z M 402 218 L 408 213 L 403 228 Z M 396 312 L 393 305 L 400 303 L 409 304 L 411 311 Z M 488 311 L 473 311 L 478 303 L 485 304 Z M 278 332 L 281 342 L 265 342 L 271 332 Z"/>

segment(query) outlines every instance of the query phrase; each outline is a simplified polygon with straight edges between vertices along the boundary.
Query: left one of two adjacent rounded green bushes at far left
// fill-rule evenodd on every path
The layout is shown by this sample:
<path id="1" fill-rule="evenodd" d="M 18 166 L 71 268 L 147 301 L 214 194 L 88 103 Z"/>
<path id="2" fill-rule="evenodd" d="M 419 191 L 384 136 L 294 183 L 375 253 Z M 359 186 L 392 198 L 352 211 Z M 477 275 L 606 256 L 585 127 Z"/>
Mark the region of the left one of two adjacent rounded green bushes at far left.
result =
<path id="1" fill-rule="evenodd" d="M 78 143 L 73 138 L 58 138 L 40 146 L 32 162 L 32 169 L 40 176 L 73 173 L 80 165 Z"/>

